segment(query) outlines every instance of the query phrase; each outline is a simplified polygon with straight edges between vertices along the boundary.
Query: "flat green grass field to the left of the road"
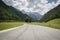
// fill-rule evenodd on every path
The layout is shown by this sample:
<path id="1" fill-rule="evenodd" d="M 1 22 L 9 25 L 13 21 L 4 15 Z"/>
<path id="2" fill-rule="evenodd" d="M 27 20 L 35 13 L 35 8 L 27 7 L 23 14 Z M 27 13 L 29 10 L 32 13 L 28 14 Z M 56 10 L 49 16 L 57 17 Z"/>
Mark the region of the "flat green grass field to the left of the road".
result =
<path id="1" fill-rule="evenodd" d="M 5 30 L 23 25 L 23 22 L 0 22 L 0 30 Z"/>

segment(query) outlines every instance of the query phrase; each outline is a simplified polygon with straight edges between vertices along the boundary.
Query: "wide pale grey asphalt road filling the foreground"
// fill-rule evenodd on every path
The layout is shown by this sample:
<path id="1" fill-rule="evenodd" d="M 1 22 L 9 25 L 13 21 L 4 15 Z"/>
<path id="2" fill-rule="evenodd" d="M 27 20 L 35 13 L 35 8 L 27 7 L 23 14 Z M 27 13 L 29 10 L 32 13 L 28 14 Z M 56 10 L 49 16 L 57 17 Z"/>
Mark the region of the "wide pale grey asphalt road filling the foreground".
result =
<path id="1" fill-rule="evenodd" d="M 60 30 L 24 24 L 10 31 L 0 32 L 0 40 L 60 40 Z"/>

